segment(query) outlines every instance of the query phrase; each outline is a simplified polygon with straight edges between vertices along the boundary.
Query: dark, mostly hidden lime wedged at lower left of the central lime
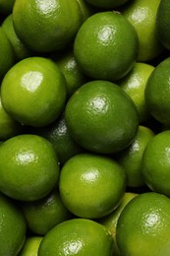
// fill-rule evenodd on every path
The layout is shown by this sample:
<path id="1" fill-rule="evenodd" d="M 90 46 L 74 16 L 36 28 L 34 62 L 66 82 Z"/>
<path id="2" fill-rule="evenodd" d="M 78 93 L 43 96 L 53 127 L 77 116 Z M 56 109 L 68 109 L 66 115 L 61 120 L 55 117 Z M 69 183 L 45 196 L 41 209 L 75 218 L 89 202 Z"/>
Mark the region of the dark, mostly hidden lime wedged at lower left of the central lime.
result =
<path id="1" fill-rule="evenodd" d="M 32 132 L 44 137 L 53 145 L 61 166 L 67 160 L 85 151 L 70 136 L 66 125 L 65 113 L 52 124 L 35 128 Z"/>

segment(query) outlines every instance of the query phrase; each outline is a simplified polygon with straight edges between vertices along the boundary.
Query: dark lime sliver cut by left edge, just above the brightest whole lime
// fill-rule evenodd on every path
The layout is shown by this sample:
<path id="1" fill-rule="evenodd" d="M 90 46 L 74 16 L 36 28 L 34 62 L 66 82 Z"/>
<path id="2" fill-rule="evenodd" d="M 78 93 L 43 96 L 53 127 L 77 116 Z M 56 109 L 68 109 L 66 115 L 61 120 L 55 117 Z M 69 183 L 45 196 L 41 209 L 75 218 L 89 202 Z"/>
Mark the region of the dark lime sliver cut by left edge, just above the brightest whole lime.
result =
<path id="1" fill-rule="evenodd" d="M 15 53 L 6 33 L 0 27 L 0 82 L 7 71 L 15 64 Z"/>

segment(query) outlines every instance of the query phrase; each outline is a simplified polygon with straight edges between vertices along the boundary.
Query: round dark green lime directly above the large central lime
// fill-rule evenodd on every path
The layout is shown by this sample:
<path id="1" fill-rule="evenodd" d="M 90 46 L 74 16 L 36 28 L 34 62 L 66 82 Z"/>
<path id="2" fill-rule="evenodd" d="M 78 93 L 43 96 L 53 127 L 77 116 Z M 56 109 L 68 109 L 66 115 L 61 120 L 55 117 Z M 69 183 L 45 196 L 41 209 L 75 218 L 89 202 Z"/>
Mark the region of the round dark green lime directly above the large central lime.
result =
<path id="1" fill-rule="evenodd" d="M 92 79 L 115 81 L 124 77 L 133 68 L 138 49 L 136 30 L 115 11 L 91 15 L 74 41 L 76 61 Z"/>

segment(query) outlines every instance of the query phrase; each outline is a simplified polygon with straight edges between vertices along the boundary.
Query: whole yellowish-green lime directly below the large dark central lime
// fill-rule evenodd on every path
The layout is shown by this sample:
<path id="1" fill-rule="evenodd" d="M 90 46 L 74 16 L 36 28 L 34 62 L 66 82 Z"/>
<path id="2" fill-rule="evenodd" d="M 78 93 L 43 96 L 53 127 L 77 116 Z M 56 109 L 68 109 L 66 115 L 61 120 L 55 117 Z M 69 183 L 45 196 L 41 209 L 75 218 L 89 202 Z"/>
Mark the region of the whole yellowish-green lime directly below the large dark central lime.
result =
<path id="1" fill-rule="evenodd" d="M 80 154 L 61 168 L 59 191 L 66 208 L 75 216 L 96 219 L 111 213 L 125 193 L 125 173 L 107 157 Z"/>

